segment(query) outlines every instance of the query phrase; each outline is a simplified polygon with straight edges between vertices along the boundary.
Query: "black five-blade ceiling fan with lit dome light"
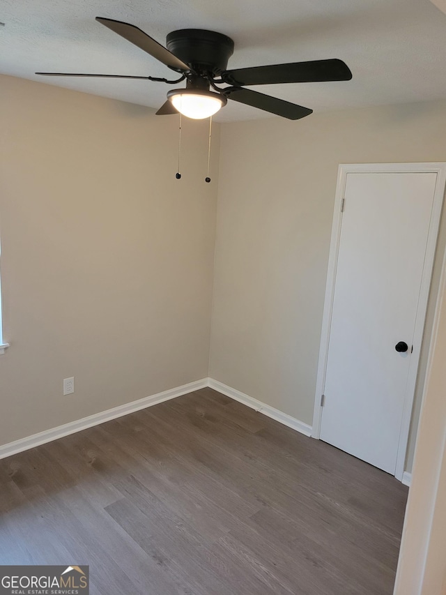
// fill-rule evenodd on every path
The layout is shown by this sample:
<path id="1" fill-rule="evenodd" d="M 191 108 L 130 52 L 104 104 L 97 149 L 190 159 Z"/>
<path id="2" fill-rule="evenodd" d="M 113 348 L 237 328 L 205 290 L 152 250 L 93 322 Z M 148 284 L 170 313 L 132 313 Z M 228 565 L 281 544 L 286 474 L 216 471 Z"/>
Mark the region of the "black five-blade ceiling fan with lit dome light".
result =
<path id="1" fill-rule="evenodd" d="M 344 81 L 351 80 L 352 77 L 348 66 L 338 59 L 226 70 L 228 60 L 233 54 L 234 43 L 222 33 L 204 29 L 180 29 L 169 33 L 167 47 L 164 47 L 134 25 L 102 17 L 96 17 L 96 20 L 169 66 L 171 70 L 179 73 L 180 77 L 167 80 L 158 77 L 86 73 L 36 75 L 144 79 L 167 84 L 177 84 L 186 80 L 185 89 L 173 89 L 167 93 L 167 101 L 156 112 L 158 116 L 180 112 L 190 118 L 203 119 L 215 114 L 226 105 L 228 99 L 231 99 L 290 120 L 308 116 L 313 110 L 244 87 L 257 84 Z M 221 84 L 229 86 L 219 86 Z"/>

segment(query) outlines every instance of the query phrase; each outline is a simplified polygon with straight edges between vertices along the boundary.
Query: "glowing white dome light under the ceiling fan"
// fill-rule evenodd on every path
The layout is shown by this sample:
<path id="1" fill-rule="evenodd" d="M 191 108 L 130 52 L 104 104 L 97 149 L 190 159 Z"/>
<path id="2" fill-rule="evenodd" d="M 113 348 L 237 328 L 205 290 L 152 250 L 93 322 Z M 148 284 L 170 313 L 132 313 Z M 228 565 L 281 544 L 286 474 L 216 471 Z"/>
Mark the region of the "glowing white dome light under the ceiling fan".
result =
<path id="1" fill-rule="evenodd" d="M 180 114 L 194 120 L 213 116 L 227 103 L 224 95 L 204 89 L 174 89 L 167 98 Z"/>

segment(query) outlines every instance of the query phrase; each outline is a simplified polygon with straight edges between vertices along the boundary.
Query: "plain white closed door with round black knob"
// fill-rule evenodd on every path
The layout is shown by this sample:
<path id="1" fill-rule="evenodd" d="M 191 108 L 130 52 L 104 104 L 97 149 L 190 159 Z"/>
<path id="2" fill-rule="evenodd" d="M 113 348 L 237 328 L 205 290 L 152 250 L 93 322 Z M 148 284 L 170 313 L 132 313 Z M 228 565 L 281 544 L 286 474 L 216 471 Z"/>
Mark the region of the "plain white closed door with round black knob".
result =
<path id="1" fill-rule="evenodd" d="M 420 354 L 411 350 L 436 179 L 346 174 L 321 439 L 392 474 L 410 359 Z"/>

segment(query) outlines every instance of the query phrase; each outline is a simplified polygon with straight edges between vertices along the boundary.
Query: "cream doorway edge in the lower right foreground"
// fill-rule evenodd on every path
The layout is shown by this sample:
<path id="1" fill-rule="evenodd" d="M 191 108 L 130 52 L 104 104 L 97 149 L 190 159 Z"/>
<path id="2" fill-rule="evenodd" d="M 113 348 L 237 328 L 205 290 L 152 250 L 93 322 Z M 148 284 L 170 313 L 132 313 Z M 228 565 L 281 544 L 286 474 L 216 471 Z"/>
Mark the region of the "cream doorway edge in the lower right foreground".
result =
<path id="1" fill-rule="evenodd" d="M 395 595 L 446 593 L 446 260 Z"/>

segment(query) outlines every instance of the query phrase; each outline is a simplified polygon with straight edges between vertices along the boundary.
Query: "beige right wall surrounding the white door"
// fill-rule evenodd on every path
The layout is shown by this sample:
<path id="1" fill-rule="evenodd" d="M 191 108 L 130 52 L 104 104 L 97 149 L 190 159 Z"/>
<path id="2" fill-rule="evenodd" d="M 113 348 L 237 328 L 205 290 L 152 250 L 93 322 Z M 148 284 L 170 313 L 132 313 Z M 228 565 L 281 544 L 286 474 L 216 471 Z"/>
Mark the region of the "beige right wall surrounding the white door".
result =
<path id="1" fill-rule="evenodd" d="M 445 130 L 445 102 L 222 126 L 210 377 L 312 423 L 338 165 L 445 161 Z"/>

